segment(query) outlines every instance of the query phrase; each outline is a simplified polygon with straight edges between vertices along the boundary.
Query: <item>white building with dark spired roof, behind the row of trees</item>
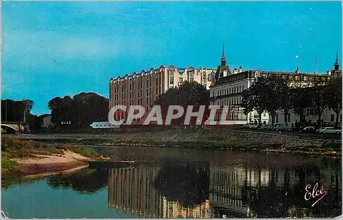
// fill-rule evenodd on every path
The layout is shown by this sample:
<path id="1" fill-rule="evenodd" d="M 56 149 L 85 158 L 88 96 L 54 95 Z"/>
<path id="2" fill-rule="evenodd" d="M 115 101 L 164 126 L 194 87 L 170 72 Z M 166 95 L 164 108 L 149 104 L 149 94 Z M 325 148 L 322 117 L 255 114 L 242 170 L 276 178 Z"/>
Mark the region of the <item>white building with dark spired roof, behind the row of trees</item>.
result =
<path id="1" fill-rule="evenodd" d="M 246 70 L 244 71 L 241 66 L 239 69 L 230 71 L 230 68 L 226 65 L 226 59 L 224 52 L 220 66 L 217 67 L 217 71 L 213 75 L 213 80 L 210 86 L 210 98 L 211 105 L 217 106 L 233 106 L 236 108 L 235 114 L 233 114 L 233 120 L 246 120 L 247 123 L 257 123 L 259 115 L 256 111 L 249 112 L 248 115 L 244 115 L 243 108 L 241 106 L 241 95 L 243 90 L 249 88 L 252 83 L 257 80 L 258 77 L 268 77 L 270 75 L 278 75 L 289 82 L 289 86 L 294 85 L 309 85 L 314 81 L 314 77 L 329 78 L 332 76 L 342 75 L 342 70 L 339 69 L 340 64 L 338 58 L 336 58 L 335 69 L 327 71 L 327 74 L 316 74 L 316 73 L 300 73 L 298 66 L 294 73 L 281 72 L 281 71 L 262 71 L 258 70 Z M 287 117 L 283 115 L 283 111 L 276 112 L 276 123 L 296 121 L 296 115 L 292 114 Z M 281 116 L 282 114 L 282 116 Z M 329 113 L 332 120 L 332 112 Z M 324 117 L 326 119 L 326 117 Z M 262 114 L 262 123 L 270 123 L 271 118 L 267 112 Z"/>

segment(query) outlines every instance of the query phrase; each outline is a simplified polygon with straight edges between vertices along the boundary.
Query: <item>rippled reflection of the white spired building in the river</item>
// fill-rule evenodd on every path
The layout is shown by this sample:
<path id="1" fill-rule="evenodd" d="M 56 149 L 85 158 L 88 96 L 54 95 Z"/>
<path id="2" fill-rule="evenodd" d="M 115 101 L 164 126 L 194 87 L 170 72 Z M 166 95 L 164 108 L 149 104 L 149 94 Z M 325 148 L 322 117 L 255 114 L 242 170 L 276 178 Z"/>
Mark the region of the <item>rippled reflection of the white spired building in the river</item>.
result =
<path id="1" fill-rule="evenodd" d="M 296 183 L 294 172 L 287 173 L 290 185 Z M 230 211 L 235 217 L 257 217 L 249 207 L 250 195 L 245 193 L 247 188 L 266 188 L 274 184 L 280 188 L 285 184 L 285 171 L 272 169 L 248 169 L 243 167 L 212 168 L 210 169 L 210 202 L 214 217 L 219 210 Z M 266 195 L 267 196 L 267 195 Z M 270 196 L 270 195 L 268 195 Z"/>

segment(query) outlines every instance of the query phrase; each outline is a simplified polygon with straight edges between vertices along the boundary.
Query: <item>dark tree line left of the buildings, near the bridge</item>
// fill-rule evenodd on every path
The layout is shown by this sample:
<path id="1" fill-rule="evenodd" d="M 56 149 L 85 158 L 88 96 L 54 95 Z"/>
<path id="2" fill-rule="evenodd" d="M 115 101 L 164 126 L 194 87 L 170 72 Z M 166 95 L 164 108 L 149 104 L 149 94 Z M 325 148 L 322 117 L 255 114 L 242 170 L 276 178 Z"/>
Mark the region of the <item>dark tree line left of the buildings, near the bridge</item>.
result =
<path id="1" fill-rule="evenodd" d="M 34 101 L 29 99 L 1 100 L 1 121 L 24 123 L 29 125 L 29 130 L 36 132 L 47 114 L 31 114 L 33 106 Z M 54 97 L 49 101 L 48 108 L 51 110 L 51 122 L 56 125 L 82 127 L 94 121 L 108 120 L 108 99 L 96 93 L 80 93 L 73 98 Z"/>

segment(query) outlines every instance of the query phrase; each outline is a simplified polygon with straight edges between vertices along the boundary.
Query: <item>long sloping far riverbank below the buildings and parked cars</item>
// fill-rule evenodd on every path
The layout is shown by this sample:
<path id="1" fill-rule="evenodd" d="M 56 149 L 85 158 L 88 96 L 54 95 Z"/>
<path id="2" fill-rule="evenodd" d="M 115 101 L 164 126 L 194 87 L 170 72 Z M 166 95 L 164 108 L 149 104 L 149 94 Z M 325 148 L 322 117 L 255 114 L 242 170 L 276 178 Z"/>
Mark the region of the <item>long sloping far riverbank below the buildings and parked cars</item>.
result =
<path id="1" fill-rule="evenodd" d="M 342 155 L 342 142 L 337 139 L 239 130 L 189 129 L 107 134 L 42 134 L 38 136 L 23 135 L 21 138 L 34 138 L 47 143 L 72 145 L 230 149 L 337 157 Z"/>

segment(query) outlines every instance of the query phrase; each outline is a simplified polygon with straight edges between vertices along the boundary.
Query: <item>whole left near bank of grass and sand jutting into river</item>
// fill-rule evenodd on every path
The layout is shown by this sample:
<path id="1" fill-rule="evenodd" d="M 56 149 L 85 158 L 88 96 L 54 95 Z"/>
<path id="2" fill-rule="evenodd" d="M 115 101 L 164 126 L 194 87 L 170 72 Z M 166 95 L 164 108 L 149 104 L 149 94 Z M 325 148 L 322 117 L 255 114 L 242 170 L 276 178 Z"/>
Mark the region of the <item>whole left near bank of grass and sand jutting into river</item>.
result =
<path id="1" fill-rule="evenodd" d="M 1 138 L 1 177 L 8 178 L 78 169 L 97 153 L 91 147 L 47 145 L 18 138 Z"/>

